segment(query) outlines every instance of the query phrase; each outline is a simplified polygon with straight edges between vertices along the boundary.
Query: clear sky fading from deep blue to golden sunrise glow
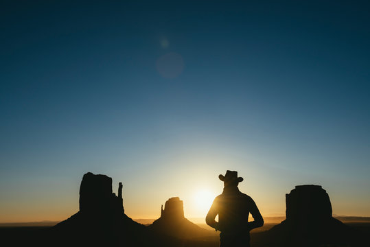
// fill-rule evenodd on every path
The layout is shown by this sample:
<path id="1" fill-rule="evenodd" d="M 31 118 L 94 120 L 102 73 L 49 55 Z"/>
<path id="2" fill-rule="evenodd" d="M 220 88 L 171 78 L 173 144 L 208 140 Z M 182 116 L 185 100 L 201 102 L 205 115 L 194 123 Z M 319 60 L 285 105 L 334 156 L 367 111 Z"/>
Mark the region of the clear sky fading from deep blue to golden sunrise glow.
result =
<path id="1" fill-rule="evenodd" d="M 2 1 L 0 222 L 67 219 L 86 172 L 205 217 L 227 169 L 264 216 L 305 184 L 370 216 L 369 7 Z"/>

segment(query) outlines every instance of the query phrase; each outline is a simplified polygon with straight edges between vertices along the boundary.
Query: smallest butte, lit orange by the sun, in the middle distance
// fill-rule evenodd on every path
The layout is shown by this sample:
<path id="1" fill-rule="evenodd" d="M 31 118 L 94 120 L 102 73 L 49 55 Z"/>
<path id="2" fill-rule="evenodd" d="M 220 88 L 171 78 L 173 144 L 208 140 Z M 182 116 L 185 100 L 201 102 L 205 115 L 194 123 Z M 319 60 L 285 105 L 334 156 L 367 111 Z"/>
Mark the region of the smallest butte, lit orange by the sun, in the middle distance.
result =
<path id="1" fill-rule="evenodd" d="M 165 208 L 161 207 L 161 217 L 155 220 L 149 228 L 156 232 L 180 239 L 205 237 L 213 235 L 200 226 L 190 222 L 184 217 L 183 201 L 178 197 L 170 198 L 165 202 Z"/>

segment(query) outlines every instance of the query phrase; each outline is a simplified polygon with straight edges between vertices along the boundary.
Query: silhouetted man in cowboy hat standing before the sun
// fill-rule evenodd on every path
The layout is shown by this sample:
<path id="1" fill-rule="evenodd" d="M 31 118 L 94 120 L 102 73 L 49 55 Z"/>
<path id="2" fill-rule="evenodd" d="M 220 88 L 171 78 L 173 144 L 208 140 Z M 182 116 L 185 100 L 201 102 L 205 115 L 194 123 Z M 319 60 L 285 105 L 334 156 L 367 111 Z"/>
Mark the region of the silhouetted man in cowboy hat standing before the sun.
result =
<path id="1" fill-rule="evenodd" d="M 253 199 L 239 191 L 238 185 L 243 178 L 238 178 L 238 172 L 227 171 L 225 176 L 220 174 L 218 178 L 224 182 L 224 191 L 213 201 L 205 221 L 216 231 L 221 231 L 220 247 L 250 246 L 249 231 L 263 226 L 264 219 Z M 253 222 L 248 222 L 249 213 Z"/>

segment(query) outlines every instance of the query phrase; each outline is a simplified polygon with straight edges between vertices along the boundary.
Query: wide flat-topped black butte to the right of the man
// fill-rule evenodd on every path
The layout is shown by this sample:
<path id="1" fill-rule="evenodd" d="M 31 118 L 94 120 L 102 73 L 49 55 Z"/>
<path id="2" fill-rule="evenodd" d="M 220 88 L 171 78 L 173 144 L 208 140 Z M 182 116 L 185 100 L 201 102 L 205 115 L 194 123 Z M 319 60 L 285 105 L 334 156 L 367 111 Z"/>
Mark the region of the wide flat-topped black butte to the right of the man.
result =
<path id="1" fill-rule="evenodd" d="M 279 246 L 336 246 L 353 242 L 351 228 L 332 217 L 329 195 L 319 185 L 299 185 L 286 194 L 286 220 L 264 239 Z"/>

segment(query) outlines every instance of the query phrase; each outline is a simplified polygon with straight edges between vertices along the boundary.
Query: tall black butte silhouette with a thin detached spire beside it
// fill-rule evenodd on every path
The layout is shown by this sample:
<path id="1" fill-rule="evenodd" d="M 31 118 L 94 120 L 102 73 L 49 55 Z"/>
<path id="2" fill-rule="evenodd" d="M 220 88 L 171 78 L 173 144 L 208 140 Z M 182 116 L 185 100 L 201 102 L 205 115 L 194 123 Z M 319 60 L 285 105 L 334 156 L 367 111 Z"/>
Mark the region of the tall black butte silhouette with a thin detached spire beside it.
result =
<path id="1" fill-rule="evenodd" d="M 112 178 L 84 174 L 80 211 L 54 226 L 54 235 L 72 246 L 145 245 L 145 226 L 124 213 L 122 183 L 117 194 L 112 191 Z"/>

